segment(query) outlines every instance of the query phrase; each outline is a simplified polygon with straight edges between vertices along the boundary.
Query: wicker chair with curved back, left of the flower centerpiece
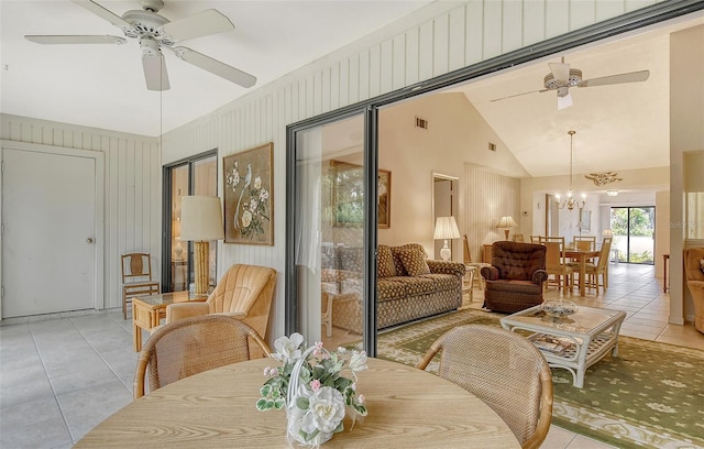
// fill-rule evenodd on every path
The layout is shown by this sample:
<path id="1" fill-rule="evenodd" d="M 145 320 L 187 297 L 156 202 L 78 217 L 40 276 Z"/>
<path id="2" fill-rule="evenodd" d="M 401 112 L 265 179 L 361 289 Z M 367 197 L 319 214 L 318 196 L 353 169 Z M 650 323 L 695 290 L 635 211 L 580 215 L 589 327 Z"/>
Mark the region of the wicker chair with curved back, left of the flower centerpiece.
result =
<path id="1" fill-rule="evenodd" d="M 268 357 L 266 342 L 245 322 L 227 315 L 202 315 L 160 327 L 140 352 L 134 373 L 134 398 L 172 382 L 235 362 L 250 360 L 250 341 Z"/>

